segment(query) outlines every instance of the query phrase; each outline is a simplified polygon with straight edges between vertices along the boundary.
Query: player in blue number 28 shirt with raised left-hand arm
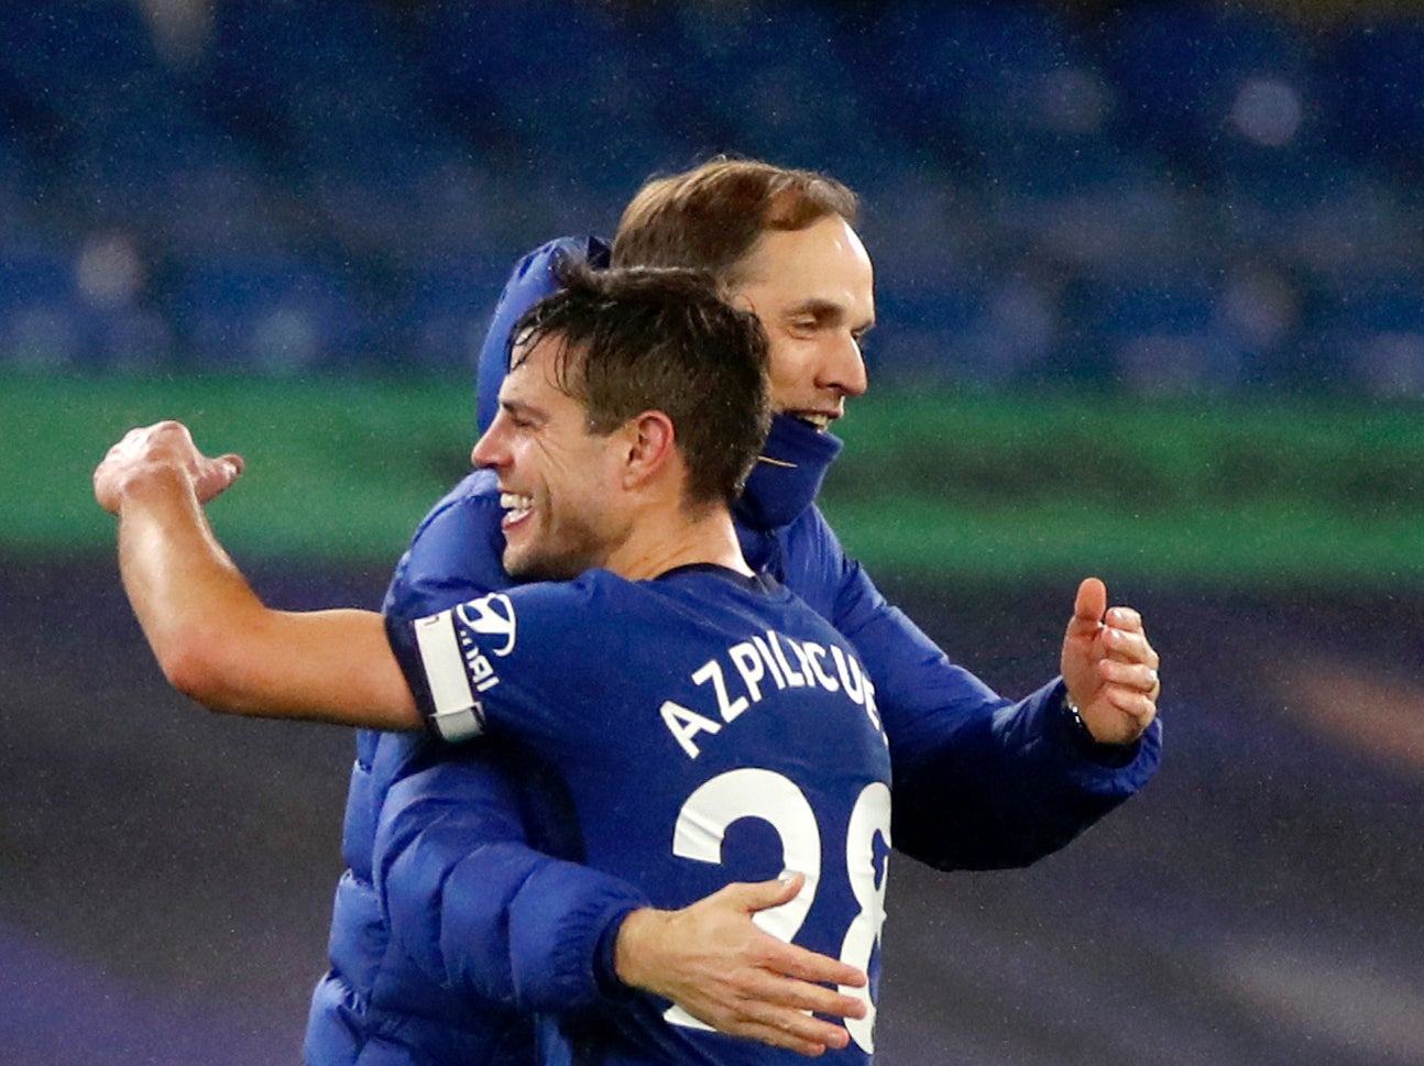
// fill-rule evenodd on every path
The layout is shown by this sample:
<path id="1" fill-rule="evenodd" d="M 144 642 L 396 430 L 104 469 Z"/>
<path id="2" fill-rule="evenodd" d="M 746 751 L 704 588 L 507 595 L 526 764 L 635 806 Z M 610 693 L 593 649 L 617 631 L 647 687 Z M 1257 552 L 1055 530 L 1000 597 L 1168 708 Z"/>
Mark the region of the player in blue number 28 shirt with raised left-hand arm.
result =
<path id="1" fill-rule="evenodd" d="M 568 791 L 588 861 L 635 881 L 654 904 L 686 907 L 742 871 L 787 877 L 789 911 L 773 928 L 844 955 L 843 942 L 864 927 L 857 942 L 869 968 L 883 919 L 884 882 L 876 885 L 871 864 L 876 835 L 889 835 L 890 760 L 853 648 L 742 558 L 729 508 L 769 421 L 765 333 L 703 276 L 568 273 L 524 316 L 500 413 L 473 460 L 507 502 L 506 569 L 571 584 L 456 605 L 393 628 L 389 646 L 359 612 L 261 606 L 212 552 L 205 564 L 189 558 L 182 586 L 147 581 L 152 555 L 135 538 L 209 535 L 195 508 L 238 470 L 232 457 L 198 454 L 177 423 L 128 434 L 94 481 L 121 518 L 124 576 L 175 683 L 191 669 L 191 633 L 262 662 L 332 646 L 356 653 L 379 704 L 419 704 L 450 739 L 488 730 L 496 742 L 533 744 Z M 394 946 L 412 958 L 439 954 L 440 938 L 404 921 L 406 882 L 419 895 L 444 875 L 393 841 L 439 835 L 447 811 L 464 817 L 464 776 L 459 760 L 437 761 L 387 801 L 376 851 Z M 732 824 L 748 817 L 766 818 L 775 838 L 750 837 L 723 854 Z M 826 834 L 839 843 L 823 850 Z M 866 1015 L 863 971 L 844 965 L 840 978 L 859 998 L 815 988 L 807 1009 Z M 404 993 L 439 1002 L 447 991 L 426 979 Z M 565 1026 L 591 1062 L 776 1055 L 712 1035 L 649 996 Z M 434 1040 L 440 1060 L 459 1060 L 453 1028 Z M 867 1062 L 869 1019 L 854 1043 L 852 1057 Z"/>

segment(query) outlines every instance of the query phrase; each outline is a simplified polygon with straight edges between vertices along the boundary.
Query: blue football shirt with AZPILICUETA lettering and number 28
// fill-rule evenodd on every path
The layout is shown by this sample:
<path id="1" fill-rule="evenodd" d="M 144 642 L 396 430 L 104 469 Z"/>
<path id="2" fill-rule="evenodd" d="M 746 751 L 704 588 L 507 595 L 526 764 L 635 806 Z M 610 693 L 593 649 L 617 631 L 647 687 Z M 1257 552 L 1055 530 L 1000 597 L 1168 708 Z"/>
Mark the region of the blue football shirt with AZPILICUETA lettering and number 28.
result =
<path id="1" fill-rule="evenodd" d="M 732 881 L 805 874 L 769 932 L 866 969 L 873 1008 L 890 844 L 874 686 L 795 595 L 718 566 L 629 582 L 591 571 L 413 623 L 397 658 L 447 739 L 507 734 L 564 777 L 590 865 L 679 908 Z M 837 1060 L 869 1062 L 874 1016 Z M 800 1062 L 665 1001 L 580 1023 L 590 1062 Z"/>

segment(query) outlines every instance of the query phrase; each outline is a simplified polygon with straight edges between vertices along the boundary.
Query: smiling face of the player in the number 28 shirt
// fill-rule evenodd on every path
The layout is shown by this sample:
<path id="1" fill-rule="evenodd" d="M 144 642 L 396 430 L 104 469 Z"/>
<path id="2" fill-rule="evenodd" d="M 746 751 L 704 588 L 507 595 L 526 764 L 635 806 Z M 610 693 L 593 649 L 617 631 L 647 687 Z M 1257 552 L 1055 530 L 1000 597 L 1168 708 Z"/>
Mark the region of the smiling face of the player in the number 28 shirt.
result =
<path id="1" fill-rule="evenodd" d="M 604 565 L 625 535 L 617 508 L 617 433 L 591 433 L 584 406 L 558 387 L 562 340 L 515 349 L 500 411 L 470 458 L 500 478 L 504 569 L 567 579 Z"/>

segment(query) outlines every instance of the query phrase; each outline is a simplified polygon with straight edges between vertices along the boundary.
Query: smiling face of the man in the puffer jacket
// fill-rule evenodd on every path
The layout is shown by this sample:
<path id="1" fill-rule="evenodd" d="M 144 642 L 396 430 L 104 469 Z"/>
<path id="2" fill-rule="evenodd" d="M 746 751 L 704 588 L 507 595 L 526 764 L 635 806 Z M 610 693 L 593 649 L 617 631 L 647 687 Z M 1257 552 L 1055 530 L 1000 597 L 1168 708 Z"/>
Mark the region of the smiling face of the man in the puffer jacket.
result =
<path id="1" fill-rule="evenodd" d="M 874 272 L 839 215 L 768 229 L 733 270 L 731 299 L 770 340 L 772 407 L 826 428 L 866 391 L 860 340 L 874 324 Z"/>

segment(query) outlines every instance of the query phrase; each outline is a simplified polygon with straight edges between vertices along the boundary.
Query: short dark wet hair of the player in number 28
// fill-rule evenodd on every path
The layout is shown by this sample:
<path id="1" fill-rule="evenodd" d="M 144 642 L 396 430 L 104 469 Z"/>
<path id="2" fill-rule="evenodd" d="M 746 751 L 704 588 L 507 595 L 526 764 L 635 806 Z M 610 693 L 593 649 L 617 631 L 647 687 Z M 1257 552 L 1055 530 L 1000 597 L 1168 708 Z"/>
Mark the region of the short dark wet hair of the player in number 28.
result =
<path id="1" fill-rule="evenodd" d="M 584 406 L 591 433 L 662 411 L 688 468 L 685 502 L 733 501 L 772 417 L 756 316 L 725 303 L 701 270 L 571 266 L 560 282 L 515 324 L 515 349 L 527 357 L 557 337 L 557 384 Z"/>

